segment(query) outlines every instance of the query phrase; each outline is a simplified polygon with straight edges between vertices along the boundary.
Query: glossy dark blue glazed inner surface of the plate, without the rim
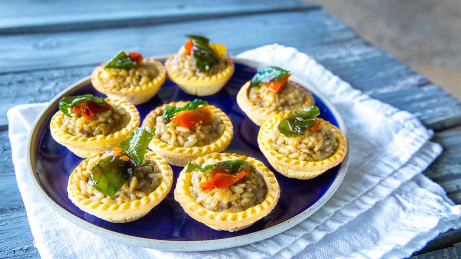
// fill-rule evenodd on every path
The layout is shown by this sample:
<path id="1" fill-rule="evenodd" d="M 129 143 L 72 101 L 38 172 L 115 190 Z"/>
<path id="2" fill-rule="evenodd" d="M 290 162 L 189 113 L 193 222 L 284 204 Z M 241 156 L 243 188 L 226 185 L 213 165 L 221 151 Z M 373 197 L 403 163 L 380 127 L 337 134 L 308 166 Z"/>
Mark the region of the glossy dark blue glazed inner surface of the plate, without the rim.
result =
<path id="1" fill-rule="evenodd" d="M 164 201 L 154 207 L 145 217 L 130 223 L 114 224 L 84 213 L 69 200 L 66 190 L 69 175 L 82 159 L 54 141 L 50 135 L 49 127 L 45 127 L 45 130 L 39 133 L 39 136 L 41 136 L 39 138 L 40 144 L 36 150 L 36 172 L 40 184 L 46 190 L 48 196 L 59 206 L 89 223 L 130 236 L 158 240 L 200 241 L 242 236 L 280 224 L 296 216 L 312 206 L 325 194 L 335 179 L 340 166 L 338 165 L 328 170 L 317 178 L 302 181 L 287 178 L 277 173 L 269 165 L 256 142 L 259 127 L 248 119 L 236 103 L 238 90 L 246 81 L 251 79 L 255 72 L 256 70 L 253 68 L 236 63 L 235 73 L 226 86 L 213 96 L 201 98 L 219 107 L 231 118 L 234 126 L 234 138 L 223 152 L 252 156 L 263 161 L 275 173 L 280 184 L 281 193 L 277 206 L 269 215 L 252 226 L 236 232 L 217 231 L 190 218 L 189 215 L 184 213 L 179 203 L 173 199 L 176 178 L 182 170 L 182 167 L 175 166 L 172 166 L 175 180 L 171 192 Z M 78 89 L 73 94 L 84 93 L 103 96 L 96 92 L 91 84 Z M 193 100 L 195 98 L 195 96 L 184 93 L 172 81 L 167 79 L 154 98 L 146 104 L 138 105 L 137 108 L 141 119 L 144 119 L 149 111 L 161 104 L 171 101 Z M 314 98 L 321 111 L 320 117 L 338 126 L 336 119 L 326 105 L 315 95 Z M 48 123 L 50 119 L 51 115 L 47 120 Z"/>

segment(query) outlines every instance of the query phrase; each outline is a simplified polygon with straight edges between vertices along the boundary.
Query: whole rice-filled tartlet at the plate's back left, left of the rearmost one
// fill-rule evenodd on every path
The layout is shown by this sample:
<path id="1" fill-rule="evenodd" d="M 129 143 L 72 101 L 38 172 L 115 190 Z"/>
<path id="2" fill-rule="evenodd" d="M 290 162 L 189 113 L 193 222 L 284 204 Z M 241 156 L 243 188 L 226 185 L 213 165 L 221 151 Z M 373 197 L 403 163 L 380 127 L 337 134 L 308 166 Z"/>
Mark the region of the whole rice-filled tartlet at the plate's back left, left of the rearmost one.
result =
<path id="1" fill-rule="evenodd" d="M 91 73 L 91 83 L 96 90 L 131 104 L 142 104 L 154 97 L 165 78 L 162 63 L 123 50 Z"/>

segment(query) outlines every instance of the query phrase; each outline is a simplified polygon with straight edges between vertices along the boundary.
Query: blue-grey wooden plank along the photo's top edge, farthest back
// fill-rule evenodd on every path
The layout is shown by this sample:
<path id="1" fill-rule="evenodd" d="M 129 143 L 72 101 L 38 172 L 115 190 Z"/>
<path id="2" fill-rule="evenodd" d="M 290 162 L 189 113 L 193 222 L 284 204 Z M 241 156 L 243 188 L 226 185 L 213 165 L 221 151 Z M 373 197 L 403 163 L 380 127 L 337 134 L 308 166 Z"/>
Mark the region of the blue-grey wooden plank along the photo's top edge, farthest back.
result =
<path id="1" fill-rule="evenodd" d="M 3 1 L 0 34 L 38 33 L 174 23 L 260 12 L 307 10 L 319 6 L 288 1 Z M 59 10 L 59 12 L 56 12 Z"/>

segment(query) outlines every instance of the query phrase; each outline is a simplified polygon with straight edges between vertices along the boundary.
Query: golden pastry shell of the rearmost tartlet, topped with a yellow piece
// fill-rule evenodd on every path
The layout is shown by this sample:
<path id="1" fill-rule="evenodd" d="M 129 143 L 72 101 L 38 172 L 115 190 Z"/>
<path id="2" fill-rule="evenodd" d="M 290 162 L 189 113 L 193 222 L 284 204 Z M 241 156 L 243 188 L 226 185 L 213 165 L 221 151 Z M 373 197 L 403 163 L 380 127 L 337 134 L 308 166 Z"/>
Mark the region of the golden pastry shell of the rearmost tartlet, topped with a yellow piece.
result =
<path id="1" fill-rule="evenodd" d="M 208 96 L 213 95 L 221 90 L 226 82 L 234 74 L 234 62 L 226 55 L 225 62 L 226 66 L 216 75 L 210 75 L 206 77 L 199 76 L 185 76 L 176 73 L 171 69 L 171 60 L 174 55 L 171 55 L 166 59 L 165 67 L 168 77 L 171 81 L 175 82 L 184 92 L 190 95 L 197 96 Z"/>

